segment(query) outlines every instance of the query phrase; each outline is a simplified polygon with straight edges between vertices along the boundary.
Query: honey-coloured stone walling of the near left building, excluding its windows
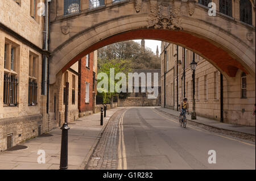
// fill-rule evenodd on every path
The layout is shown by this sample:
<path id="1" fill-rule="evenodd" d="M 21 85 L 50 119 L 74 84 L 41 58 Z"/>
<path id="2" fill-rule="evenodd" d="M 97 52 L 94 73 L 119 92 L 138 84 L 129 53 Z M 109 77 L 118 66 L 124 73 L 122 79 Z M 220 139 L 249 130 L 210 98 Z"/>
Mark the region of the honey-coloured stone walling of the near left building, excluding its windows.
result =
<path id="1" fill-rule="evenodd" d="M 27 41 L 30 41 L 36 47 L 42 48 L 43 18 L 38 16 L 36 19 L 33 19 L 30 16 L 30 0 L 22 0 L 20 2 L 20 5 L 18 5 L 15 1 L 0 1 L 0 23 Z M 43 2 L 43 0 L 38 2 Z M 18 77 L 18 105 L 13 107 L 3 105 L 6 40 L 14 43 L 17 49 L 17 66 L 15 71 Z M 38 57 L 36 63 L 38 88 L 37 104 L 35 106 L 28 106 L 30 52 Z M 41 133 L 47 131 L 46 95 L 41 95 L 41 78 L 42 54 L 32 48 L 32 46 L 28 46 L 22 39 L 17 39 L 16 35 L 5 30 L 5 28 L 0 29 L 0 150 L 7 148 L 7 134 L 13 134 L 13 146 L 15 146 L 19 142 L 38 136 L 39 126 L 41 126 Z"/>

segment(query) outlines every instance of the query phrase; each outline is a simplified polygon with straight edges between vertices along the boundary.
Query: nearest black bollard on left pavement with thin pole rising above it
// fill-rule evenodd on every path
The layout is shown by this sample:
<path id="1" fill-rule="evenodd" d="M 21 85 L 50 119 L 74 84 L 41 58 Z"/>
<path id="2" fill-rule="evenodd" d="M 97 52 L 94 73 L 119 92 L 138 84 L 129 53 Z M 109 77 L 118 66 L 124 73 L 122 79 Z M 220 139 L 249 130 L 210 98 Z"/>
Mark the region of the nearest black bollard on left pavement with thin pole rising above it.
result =
<path id="1" fill-rule="evenodd" d="M 60 128 L 61 134 L 61 150 L 60 150 L 60 170 L 68 169 L 68 87 L 69 83 L 66 82 L 65 87 L 65 123 Z"/>

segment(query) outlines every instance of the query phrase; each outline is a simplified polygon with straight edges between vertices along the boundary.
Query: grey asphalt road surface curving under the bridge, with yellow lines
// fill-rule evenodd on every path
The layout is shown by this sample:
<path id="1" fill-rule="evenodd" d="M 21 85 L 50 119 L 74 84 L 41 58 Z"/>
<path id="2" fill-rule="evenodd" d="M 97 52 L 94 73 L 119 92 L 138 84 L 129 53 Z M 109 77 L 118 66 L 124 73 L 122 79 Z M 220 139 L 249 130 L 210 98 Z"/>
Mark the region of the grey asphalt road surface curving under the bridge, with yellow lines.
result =
<path id="1" fill-rule="evenodd" d="M 255 143 L 180 127 L 153 107 L 127 108 L 118 128 L 118 169 L 255 169 Z"/>

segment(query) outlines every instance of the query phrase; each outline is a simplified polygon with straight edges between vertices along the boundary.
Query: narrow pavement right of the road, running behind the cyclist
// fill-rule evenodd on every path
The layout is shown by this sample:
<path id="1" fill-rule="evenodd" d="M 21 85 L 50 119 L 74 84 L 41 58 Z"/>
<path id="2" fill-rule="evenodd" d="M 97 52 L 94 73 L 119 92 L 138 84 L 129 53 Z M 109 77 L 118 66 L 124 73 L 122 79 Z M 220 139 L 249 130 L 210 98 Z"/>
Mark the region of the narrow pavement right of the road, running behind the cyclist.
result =
<path id="1" fill-rule="evenodd" d="M 162 108 L 162 107 L 155 107 L 156 110 L 163 111 L 166 113 L 169 113 L 170 115 L 174 116 L 179 116 L 178 111 L 170 110 L 167 108 Z M 187 115 L 187 119 L 189 121 L 194 121 L 196 123 L 204 124 L 204 125 L 209 125 L 214 128 L 219 128 L 219 129 L 225 129 L 229 131 L 235 131 L 235 132 L 240 132 L 240 133 L 247 133 L 247 134 L 253 134 L 255 135 L 255 127 L 246 127 L 242 125 L 234 125 L 234 124 L 226 124 L 226 123 L 220 123 L 220 121 L 208 119 L 205 117 L 200 117 L 196 116 L 196 120 L 191 120 L 191 114 L 189 112 L 189 115 Z"/>

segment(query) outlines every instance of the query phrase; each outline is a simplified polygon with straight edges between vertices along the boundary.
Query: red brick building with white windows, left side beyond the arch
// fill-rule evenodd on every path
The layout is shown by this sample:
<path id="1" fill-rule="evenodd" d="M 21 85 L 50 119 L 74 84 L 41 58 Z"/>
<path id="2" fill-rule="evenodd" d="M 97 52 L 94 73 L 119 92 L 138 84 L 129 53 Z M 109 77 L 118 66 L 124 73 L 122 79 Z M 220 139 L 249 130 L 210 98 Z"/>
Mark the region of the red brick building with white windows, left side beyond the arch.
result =
<path id="1" fill-rule="evenodd" d="M 83 117 L 93 113 L 93 92 L 96 92 L 97 51 L 81 58 L 79 74 L 79 117 Z"/>

